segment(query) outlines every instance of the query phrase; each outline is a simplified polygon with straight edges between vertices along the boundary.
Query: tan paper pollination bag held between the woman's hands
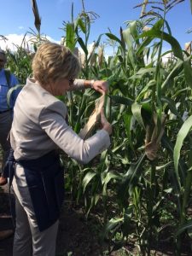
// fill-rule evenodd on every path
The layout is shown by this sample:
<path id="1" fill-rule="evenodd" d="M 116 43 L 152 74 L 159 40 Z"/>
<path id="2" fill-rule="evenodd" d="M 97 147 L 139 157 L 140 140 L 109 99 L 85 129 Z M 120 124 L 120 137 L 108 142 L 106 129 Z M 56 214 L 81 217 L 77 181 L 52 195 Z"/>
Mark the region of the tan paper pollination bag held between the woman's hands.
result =
<path id="1" fill-rule="evenodd" d="M 88 122 L 86 123 L 86 125 L 84 125 L 84 128 L 79 132 L 79 137 L 81 137 L 82 139 L 87 139 L 88 137 L 90 137 L 91 132 L 96 126 L 96 122 L 100 118 L 100 113 L 101 113 L 102 107 L 104 106 L 104 102 L 105 102 L 105 95 L 103 94 L 100 98 L 98 98 L 96 102 L 96 108 L 91 113 Z"/>

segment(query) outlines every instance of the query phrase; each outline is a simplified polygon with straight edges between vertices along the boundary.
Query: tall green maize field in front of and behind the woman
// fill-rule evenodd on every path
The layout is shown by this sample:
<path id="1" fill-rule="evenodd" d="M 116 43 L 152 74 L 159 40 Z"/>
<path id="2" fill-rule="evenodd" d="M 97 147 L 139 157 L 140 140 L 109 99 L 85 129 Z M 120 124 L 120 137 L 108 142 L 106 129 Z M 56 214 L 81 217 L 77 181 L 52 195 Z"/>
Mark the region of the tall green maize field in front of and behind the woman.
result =
<path id="1" fill-rule="evenodd" d="M 61 44 L 79 56 L 79 78 L 109 84 L 104 104 L 113 125 L 110 148 L 85 166 L 61 154 L 67 196 L 86 218 L 97 219 L 101 255 L 192 255 L 191 44 L 183 49 L 166 21 L 180 2 L 145 0 L 137 6 L 138 20 L 120 27 L 119 37 L 110 31 L 100 35 L 90 50 L 96 14 L 86 12 L 84 1 L 82 12 L 74 17 L 72 5 L 71 20 L 62 24 Z M 33 11 L 37 21 L 38 9 Z M 7 66 L 20 84 L 32 74 L 32 56 L 47 40 L 39 22 L 31 32 L 33 50 L 26 49 L 25 38 L 15 52 L 7 49 Z M 168 52 L 162 50 L 164 42 Z M 108 58 L 106 45 L 113 47 Z M 91 89 L 60 97 L 75 132 L 99 97 Z"/>

